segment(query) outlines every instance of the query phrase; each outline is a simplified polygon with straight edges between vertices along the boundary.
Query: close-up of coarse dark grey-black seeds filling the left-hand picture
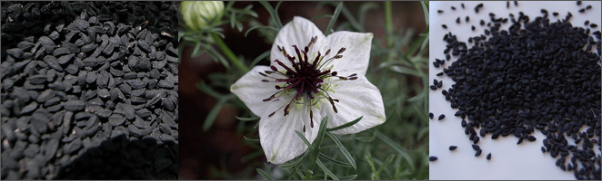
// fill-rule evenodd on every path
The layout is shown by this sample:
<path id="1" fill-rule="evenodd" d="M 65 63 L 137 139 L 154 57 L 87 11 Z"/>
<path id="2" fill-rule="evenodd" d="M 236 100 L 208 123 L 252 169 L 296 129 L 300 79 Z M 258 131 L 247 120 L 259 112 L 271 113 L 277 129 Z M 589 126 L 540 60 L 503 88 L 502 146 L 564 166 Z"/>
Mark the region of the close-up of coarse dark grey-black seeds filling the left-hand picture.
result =
<path id="1" fill-rule="evenodd" d="M 174 2 L 2 2 L 2 179 L 177 179 Z"/>

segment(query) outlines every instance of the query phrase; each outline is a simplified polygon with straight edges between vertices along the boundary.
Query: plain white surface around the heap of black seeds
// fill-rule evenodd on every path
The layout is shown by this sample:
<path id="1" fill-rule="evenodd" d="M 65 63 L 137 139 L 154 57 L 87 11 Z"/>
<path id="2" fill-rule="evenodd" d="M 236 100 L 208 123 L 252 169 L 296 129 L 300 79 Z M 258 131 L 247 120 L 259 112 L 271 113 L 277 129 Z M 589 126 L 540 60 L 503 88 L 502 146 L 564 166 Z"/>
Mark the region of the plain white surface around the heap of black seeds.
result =
<path id="1" fill-rule="evenodd" d="M 462 9 L 460 3 L 464 3 L 466 9 Z M 484 7 L 480 9 L 478 14 L 475 14 L 475 6 L 483 3 Z M 451 10 L 450 6 L 454 5 L 456 11 Z M 578 12 L 580 8 L 592 5 L 593 8 L 585 14 Z M 432 62 L 435 59 L 445 59 L 443 50 L 446 48 L 446 43 L 443 41 L 445 33 L 452 32 L 457 35 L 457 40 L 467 42 L 468 37 L 476 36 L 483 33 L 487 26 L 481 26 L 480 20 L 489 22 L 489 13 L 496 14 L 498 17 L 508 17 L 508 14 L 515 14 L 518 17 L 518 12 L 522 11 L 529 16 L 529 19 L 535 20 L 536 16 L 540 16 L 540 9 L 545 8 L 548 12 L 548 17 L 556 22 L 557 18 L 564 18 L 567 12 L 571 12 L 573 17 L 570 22 L 573 26 L 584 26 L 583 23 L 589 20 L 590 24 L 600 25 L 600 1 L 591 2 L 584 1 L 581 6 L 577 6 L 575 1 L 570 2 L 518 2 L 516 7 L 512 2 L 510 8 L 506 8 L 506 2 L 430 2 L 429 7 L 429 22 L 430 22 L 430 37 L 429 37 L 429 83 L 432 85 L 433 79 L 443 80 L 443 89 L 447 90 L 453 81 L 444 76 L 438 77 L 436 73 L 443 71 L 444 67 L 451 65 L 451 62 L 456 59 L 452 56 L 451 61 L 446 62 L 443 67 L 435 68 Z M 438 14 L 437 10 L 444 10 L 443 14 Z M 558 12 L 558 16 L 554 17 L 553 12 Z M 470 16 L 470 22 L 466 23 L 466 16 Z M 456 24 L 456 18 L 462 20 L 460 24 Z M 509 19 L 509 17 L 508 17 Z M 446 24 L 447 29 L 443 29 L 441 24 Z M 470 25 L 475 25 L 475 32 L 470 30 Z M 487 25 L 487 24 L 486 24 Z M 507 24 L 503 24 L 501 30 L 507 30 L 511 25 L 508 20 Z M 593 32 L 593 31 L 592 31 Z M 537 138 L 534 142 L 528 140 L 517 145 L 518 139 L 514 136 L 499 137 L 491 139 L 491 134 L 487 134 L 485 138 L 481 138 L 478 145 L 483 149 L 483 153 L 479 157 L 475 157 L 475 150 L 471 147 L 472 141 L 465 135 L 464 129 L 460 126 L 461 119 L 455 117 L 456 109 L 450 108 L 450 102 L 445 100 L 441 94 L 441 90 L 430 90 L 429 94 L 429 111 L 433 112 L 434 119 L 429 120 L 429 155 L 438 157 L 438 160 L 429 162 L 429 178 L 431 180 L 454 180 L 454 179 L 575 179 L 572 171 L 564 172 L 555 165 L 556 159 L 549 156 L 549 153 L 542 153 L 542 140 L 546 138 L 537 129 L 533 134 Z M 440 114 L 445 114 L 446 118 L 437 120 Z M 479 129 L 476 129 L 477 133 Z M 572 139 L 568 139 L 569 143 Z M 457 146 L 455 151 L 449 151 L 449 146 Z M 597 148 L 595 149 L 597 153 Z M 487 154 L 491 152 L 491 160 L 487 160 Z"/>

